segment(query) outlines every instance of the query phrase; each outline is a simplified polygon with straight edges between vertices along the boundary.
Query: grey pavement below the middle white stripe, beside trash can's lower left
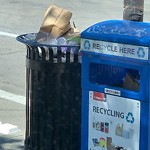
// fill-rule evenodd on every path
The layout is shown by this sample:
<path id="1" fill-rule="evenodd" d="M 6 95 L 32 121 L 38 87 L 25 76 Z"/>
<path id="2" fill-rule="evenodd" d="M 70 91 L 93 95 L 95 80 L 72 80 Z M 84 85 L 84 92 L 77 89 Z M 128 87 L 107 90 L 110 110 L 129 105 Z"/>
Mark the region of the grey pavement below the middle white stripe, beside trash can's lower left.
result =
<path id="1" fill-rule="evenodd" d="M 0 122 L 18 127 L 17 132 L 0 133 L 0 150 L 23 150 L 25 135 L 25 105 L 0 99 Z"/>

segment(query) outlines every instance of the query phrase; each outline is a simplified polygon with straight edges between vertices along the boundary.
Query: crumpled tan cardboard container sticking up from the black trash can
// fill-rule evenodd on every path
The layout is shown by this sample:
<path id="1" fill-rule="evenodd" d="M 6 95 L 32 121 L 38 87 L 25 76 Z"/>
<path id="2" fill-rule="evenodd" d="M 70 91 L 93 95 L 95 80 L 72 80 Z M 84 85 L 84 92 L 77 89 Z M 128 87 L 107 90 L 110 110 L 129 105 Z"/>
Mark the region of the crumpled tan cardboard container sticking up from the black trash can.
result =
<path id="1" fill-rule="evenodd" d="M 46 41 L 47 38 L 57 39 L 67 33 L 71 29 L 71 17 L 72 13 L 69 10 L 50 5 L 45 13 L 36 41 Z"/>

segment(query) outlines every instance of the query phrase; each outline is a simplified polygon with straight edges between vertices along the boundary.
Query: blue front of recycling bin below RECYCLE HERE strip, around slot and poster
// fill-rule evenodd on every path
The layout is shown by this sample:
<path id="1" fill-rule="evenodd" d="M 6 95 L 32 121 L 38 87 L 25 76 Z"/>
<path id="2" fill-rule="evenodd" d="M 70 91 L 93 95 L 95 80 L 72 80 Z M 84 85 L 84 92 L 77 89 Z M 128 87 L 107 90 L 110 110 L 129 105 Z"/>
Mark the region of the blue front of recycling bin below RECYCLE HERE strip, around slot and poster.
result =
<path id="1" fill-rule="evenodd" d="M 92 65 L 91 65 L 92 64 Z M 100 82 L 104 84 L 96 84 L 95 82 L 91 82 L 90 72 L 93 64 L 99 64 L 100 67 L 95 74 L 99 73 L 107 73 L 107 77 L 110 76 L 112 80 L 108 80 L 105 75 L 102 75 L 102 79 Z M 110 65 L 110 72 L 107 72 L 106 66 Z M 124 70 L 121 68 L 128 68 L 129 70 L 136 69 L 140 71 L 140 91 L 131 91 L 126 90 L 121 87 L 114 87 L 111 85 L 106 85 L 105 83 L 112 83 L 113 72 L 118 73 L 119 78 L 122 78 L 122 73 Z M 120 70 L 121 69 L 121 70 Z M 93 71 L 93 69 L 92 69 Z M 110 73 L 110 74 L 109 74 Z M 120 74 L 121 73 L 121 74 Z M 120 76 L 121 75 L 121 76 Z M 117 74 L 114 74 L 114 77 Z M 106 78 L 105 78 L 106 77 Z M 121 80 L 118 81 L 120 82 Z M 94 79 L 93 79 L 94 80 Z M 88 149 L 88 136 L 89 136 L 89 91 L 96 91 L 105 93 L 105 89 L 112 89 L 115 91 L 119 91 L 119 97 L 130 98 L 132 100 L 137 100 L 141 104 L 140 111 L 140 141 L 139 141 L 139 149 L 138 150 L 148 150 L 149 149 L 149 130 L 150 130 L 150 122 L 149 122 L 149 105 L 150 105 L 150 64 L 144 61 L 138 61 L 134 59 L 126 59 L 126 58 L 118 58 L 111 57 L 107 55 L 98 55 L 90 52 L 82 52 L 82 149 Z M 119 106 L 118 106 L 119 107 Z M 97 150 L 97 149 L 95 149 Z"/>

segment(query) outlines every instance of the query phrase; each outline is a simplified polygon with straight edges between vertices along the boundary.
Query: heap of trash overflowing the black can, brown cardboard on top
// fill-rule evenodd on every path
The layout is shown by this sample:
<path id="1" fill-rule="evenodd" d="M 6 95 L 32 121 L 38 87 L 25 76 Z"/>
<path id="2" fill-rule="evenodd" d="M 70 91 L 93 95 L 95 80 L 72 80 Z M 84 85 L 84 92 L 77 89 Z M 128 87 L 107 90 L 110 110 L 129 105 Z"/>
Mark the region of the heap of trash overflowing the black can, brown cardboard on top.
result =
<path id="1" fill-rule="evenodd" d="M 52 50 L 56 58 L 55 62 L 57 62 L 57 46 L 62 46 L 62 48 L 59 49 L 59 51 L 61 50 L 62 53 L 62 62 L 66 61 L 66 52 L 68 46 L 72 46 L 70 49 L 71 62 L 73 62 L 74 53 L 78 54 L 78 51 L 76 51 L 76 49 L 73 47 L 80 45 L 80 32 L 75 27 L 75 24 L 71 26 L 71 17 L 72 12 L 69 10 L 60 8 L 56 5 L 50 5 L 46 10 L 43 23 L 36 35 L 36 42 L 53 46 Z M 48 56 L 48 47 L 44 46 L 44 48 Z"/>

